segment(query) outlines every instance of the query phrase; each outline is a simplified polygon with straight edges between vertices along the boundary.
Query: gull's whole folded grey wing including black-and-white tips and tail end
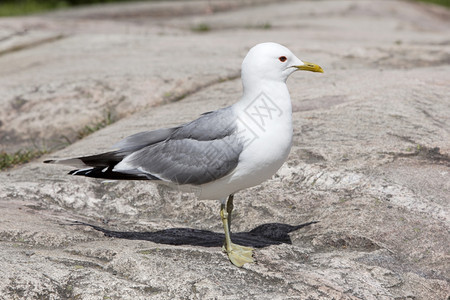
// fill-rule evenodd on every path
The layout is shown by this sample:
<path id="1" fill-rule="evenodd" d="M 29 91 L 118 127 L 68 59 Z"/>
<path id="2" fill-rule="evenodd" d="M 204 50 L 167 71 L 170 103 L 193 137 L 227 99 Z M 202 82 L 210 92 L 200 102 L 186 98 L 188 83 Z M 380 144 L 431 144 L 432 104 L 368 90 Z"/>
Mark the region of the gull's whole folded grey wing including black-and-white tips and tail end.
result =
<path id="1" fill-rule="evenodd" d="M 231 108 L 225 108 L 180 127 L 129 136 L 113 146 L 117 150 L 45 162 L 81 168 L 72 175 L 199 185 L 236 167 L 243 148 L 236 130 Z"/>

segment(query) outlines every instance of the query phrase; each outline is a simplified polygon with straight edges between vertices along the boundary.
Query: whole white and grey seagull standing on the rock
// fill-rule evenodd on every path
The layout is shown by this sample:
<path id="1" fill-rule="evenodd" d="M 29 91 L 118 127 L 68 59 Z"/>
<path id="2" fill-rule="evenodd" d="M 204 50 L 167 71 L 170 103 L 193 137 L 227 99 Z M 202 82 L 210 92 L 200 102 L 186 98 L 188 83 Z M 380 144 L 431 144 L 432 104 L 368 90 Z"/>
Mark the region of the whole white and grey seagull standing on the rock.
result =
<path id="1" fill-rule="evenodd" d="M 243 94 L 235 104 L 177 127 L 131 135 L 109 152 L 44 163 L 77 167 L 71 175 L 150 180 L 220 200 L 223 251 L 242 267 L 254 262 L 254 249 L 231 241 L 234 194 L 270 179 L 286 161 L 293 133 L 286 80 L 298 70 L 323 73 L 280 44 L 258 44 L 242 62 Z"/>

